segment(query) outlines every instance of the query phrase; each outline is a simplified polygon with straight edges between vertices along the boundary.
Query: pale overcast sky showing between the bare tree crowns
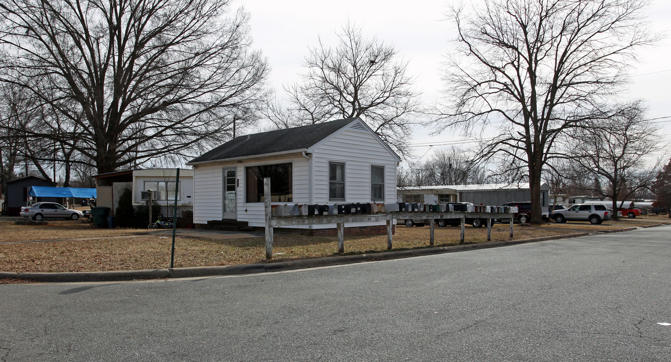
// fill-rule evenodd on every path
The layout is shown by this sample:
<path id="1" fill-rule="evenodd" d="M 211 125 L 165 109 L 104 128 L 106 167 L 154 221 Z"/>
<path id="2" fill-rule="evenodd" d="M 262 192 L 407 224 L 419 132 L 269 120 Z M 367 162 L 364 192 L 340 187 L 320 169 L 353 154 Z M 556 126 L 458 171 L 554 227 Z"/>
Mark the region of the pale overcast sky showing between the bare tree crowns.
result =
<path id="1" fill-rule="evenodd" d="M 454 38 L 454 25 L 446 21 L 446 4 L 450 0 L 408 1 L 342 0 L 236 0 L 250 13 L 254 48 L 262 50 L 272 67 L 270 84 L 280 97 L 282 85 L 297 82 L 297 74 L 309 46 L 317 37 L 326 44 L 335 44 L 335 32 L 349 19 L 362 27 L 367 37 L 377 36 L 393 44 L 406 60 L 409 72 L 417 78 L 417 90 L 423 103 L 433 104 L 443 86 L 441 63 L 450 52 L 449 40 Z M 653 0 L 648 9 L 649 20 L 656 32 L 671 34 L 671 1 Z M 671 39 L 664 39 L 655 48 L 639 52 L 641 64 L 632 71 L 628 99 L 645 99 L 648 118 L 659 119 L 663 133 L 671 139 Z M 454 131 L 429 135 L 430 129 L 417 129 L 413 144 L 417 158 L 429 157 L 433 150 L 446 145 L 425 146 L 462 139 Z M 414 161 L 413 161 L 414 162 Z"/>

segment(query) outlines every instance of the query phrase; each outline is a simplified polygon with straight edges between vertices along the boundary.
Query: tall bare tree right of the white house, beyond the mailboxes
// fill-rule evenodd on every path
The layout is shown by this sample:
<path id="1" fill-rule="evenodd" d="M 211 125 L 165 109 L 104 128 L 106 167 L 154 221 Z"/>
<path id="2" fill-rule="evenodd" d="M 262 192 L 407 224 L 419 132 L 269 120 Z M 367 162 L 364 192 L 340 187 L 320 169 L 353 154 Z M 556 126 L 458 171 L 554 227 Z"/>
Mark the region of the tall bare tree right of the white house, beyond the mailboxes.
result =
<path id="1" fill-rule="evenodd" d="M 604 119 L 604 99 L 625 80 L 639 46 L 654 41 L 641 21 L 646 0 L 485 0 L 466 15 L 453 9 L 458 53 L 448 58 L 439 131 L 498 126 L 481 160 L 524 168 L 531 222 L 541 221 L 541 174 L 556 138 Z"/>

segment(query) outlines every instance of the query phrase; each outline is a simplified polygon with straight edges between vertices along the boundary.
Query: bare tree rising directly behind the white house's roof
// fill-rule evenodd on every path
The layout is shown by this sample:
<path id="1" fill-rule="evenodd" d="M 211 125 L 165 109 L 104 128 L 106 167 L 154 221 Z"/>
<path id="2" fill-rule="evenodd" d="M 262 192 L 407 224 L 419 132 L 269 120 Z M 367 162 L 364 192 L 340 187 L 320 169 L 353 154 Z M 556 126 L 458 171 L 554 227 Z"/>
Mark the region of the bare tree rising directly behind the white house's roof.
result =
<path id="1" fill-rule="evenodd" d="M 378 38 L 365 38 L 348 23 L 331 47 L 319 39 L 305 57 L 302 82 L 285 88 L 287 105 L 269 117 L 280 127 L 320 123 L 333 117 L 364 115 L 373 131 L 409 154 L 412 125 L 419 124 L 419 93 L 399 51 Z"/>

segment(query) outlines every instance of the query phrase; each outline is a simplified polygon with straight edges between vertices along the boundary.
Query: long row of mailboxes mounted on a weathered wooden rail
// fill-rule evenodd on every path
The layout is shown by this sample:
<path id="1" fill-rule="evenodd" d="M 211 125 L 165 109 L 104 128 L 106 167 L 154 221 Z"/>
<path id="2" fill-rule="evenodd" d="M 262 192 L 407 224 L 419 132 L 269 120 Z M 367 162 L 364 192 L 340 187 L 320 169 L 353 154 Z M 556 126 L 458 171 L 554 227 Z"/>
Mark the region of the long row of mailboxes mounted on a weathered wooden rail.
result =
<path id="1" fill-rule="evenodd" d="M 517 213 L 517 206 L 483 206 L 466 203 L 422 204 L 417 202 L 357 202 L 351 204 L 273 205 L 278 217 L 372 213 Z"/>

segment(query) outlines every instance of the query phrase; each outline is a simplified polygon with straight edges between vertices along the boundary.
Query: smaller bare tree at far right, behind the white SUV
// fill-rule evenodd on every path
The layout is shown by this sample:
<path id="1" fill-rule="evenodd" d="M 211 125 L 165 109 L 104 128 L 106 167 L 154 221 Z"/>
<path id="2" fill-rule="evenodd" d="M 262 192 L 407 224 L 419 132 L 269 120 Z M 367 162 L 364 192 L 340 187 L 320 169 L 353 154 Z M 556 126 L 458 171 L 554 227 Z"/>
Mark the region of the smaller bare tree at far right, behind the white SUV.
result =
<path id="1" fill-rule="evenodd" d="M 636 101 L 605 122 L 573 129 L 563 142 L 574 178 L 595 180 L 588 190 L 611 198 L 613 210 L 639 190 L 650 189 L 661 166 L 662 159 L 655 156 L 666 146 L 645 113 Z"/>

